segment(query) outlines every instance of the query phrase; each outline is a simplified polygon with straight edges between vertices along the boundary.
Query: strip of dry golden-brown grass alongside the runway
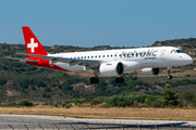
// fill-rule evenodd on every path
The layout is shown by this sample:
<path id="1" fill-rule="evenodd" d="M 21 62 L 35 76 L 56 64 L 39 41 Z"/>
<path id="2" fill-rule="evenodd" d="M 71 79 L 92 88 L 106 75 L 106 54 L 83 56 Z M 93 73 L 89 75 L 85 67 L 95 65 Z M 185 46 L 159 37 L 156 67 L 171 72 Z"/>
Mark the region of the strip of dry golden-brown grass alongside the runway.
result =
<path id="1" fill-rule="evenodd" d="M 0 107 L 0 114 L 52 115 L 79 118 L 196 120 L 196 108 Z"/>

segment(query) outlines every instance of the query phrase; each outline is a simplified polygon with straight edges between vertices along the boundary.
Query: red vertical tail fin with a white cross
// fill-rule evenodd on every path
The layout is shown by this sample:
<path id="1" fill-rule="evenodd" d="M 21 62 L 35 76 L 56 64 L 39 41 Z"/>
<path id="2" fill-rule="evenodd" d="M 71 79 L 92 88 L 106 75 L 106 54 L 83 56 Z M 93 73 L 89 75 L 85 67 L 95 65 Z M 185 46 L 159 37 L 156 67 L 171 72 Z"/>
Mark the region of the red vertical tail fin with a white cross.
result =
<path id="1" fill-rule="evenodd" d="M 26 44 L 26 51 L 30 54 L 48 55 L 44 47 L 40 44 L 34 32 L 28 26 L 23 26 L 23 35 Z"/>

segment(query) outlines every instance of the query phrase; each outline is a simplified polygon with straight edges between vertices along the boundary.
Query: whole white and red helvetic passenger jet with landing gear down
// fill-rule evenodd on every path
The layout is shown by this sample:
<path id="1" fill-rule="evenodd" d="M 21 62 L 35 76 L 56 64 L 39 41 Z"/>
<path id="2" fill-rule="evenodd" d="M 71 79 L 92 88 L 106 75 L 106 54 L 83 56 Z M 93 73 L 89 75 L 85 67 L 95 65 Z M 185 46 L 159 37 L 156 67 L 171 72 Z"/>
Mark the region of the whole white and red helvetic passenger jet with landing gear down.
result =
<path id="1" fill-rule="evenodd" d="M 193 58 L 174 47 L 154 47 L 137 49 L 118 49 L 86 52 L 69 52 L 49 54 L 40 44 L 28 26 L 23 26 L 23 35 L 27 53 L 26 58 L 17 58 L 29 65 L 40 66 L 63 72 L 93 70 L 95 77 L 91 83 L 98 83 L 98 75 L 102 77 L 117 76 L 115 82 L 123 83 L 125 73 L 136 72 L 140 77 L 157 76 L 160 67 L 168 67 L 168 79 L 172 79 L 172 66 L 182 66 L 193 63 Z"/>

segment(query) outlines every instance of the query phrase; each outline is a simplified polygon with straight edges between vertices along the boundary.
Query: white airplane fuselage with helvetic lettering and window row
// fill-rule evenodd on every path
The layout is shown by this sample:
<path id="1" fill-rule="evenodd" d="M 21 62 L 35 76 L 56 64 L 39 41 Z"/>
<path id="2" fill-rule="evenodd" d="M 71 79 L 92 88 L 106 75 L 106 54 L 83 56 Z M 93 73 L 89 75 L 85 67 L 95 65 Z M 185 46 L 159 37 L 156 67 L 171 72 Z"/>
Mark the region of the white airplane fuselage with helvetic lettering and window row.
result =
<path id="1" fill-rule="evenodd" d="M 101 63 L 107 62 L 124 62 L 124 73 L 131 73 L 136 69 L 146 67 L 168 67 L 182 66 L 193 62 L 192 57 L 174 47 L 154 47 L 154 48 L 137 48 L 137 49 L 120 49 L 120 50 L 103 50 L 88 52 L 71 52 L 49 54 L 48 56 L 69 57 L 79 60 L 96 60 Z M 133 64 L 136 64 L 133 68 Z M 83 72 L 83 65 L 71 65 L 70 63 L 50 62 L 50 65 L 57 65 L 70 72 Z M 98 67 L 97 64 L 90 67 Z"/>

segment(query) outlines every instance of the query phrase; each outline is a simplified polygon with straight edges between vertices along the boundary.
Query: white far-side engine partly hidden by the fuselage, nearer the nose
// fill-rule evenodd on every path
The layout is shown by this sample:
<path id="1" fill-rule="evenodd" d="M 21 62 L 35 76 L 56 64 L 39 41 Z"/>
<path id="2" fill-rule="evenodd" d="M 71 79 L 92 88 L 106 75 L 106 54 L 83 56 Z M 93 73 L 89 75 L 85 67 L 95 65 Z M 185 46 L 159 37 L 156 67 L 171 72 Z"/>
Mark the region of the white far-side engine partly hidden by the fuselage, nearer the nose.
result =
<path id="1" fill-rule="evenodd" d="M 140 70 L 137 70 L 137 75 L 139 77 L 150 77 L 150 76 L 157 76 L 160 73 L 160 68 L 143 68 Z"/>

